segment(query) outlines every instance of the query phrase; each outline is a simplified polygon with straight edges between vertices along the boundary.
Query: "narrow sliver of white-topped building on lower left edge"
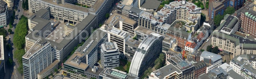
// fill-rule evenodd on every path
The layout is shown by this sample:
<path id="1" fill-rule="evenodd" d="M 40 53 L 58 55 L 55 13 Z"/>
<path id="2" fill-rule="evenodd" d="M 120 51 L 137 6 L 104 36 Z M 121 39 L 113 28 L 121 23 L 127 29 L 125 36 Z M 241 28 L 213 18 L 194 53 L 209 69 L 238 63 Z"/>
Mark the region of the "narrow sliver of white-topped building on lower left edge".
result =
<path id="1" fill-rule="evenodd" d="M 5 60 L 4 60 L 4 37 L 0 35 L 0 78 L 4 79 L 5 74 Z"/>

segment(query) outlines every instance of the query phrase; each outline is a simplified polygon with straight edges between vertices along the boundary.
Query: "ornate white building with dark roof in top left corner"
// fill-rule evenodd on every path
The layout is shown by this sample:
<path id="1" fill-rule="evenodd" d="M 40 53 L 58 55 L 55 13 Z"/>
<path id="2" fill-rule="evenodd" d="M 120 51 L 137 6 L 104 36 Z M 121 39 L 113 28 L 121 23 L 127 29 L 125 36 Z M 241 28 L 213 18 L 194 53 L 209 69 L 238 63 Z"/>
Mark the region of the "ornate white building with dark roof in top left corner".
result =
<path id="1" fill-rule="evenodd" d="M 9 0 L 8 0 L 9 1 Z M 1 0 L 0 1 L 0 28 L 7 26 L 7 20 L 8 20 L 8 10 L 7 10 L 7 4 Z M 12 8 L 11 8 L 12 9 Z"/>

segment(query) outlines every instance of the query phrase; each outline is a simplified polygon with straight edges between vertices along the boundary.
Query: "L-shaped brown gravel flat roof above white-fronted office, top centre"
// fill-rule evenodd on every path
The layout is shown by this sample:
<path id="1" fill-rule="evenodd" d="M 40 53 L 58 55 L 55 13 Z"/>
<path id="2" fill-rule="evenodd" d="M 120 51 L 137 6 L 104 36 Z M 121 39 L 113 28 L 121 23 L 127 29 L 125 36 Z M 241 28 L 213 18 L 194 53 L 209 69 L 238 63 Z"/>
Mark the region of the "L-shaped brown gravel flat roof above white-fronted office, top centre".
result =
<path id="1" fill-rule="evenodd" d="M 125 22 L 127 24 L 130 24 L 130 25 L 134 25 L 136 24 L 137 22 L 130 19 L 130 18 L 127 18 L 121 14 L 118 14 L 118 13 L 113 13 L 109 19 L 106 21 L 106 23 L 110 24 L 110 25 L 115 25 L 117 23 L 119 23 L 119 21 L 122 21 L 122 22 Z"/>

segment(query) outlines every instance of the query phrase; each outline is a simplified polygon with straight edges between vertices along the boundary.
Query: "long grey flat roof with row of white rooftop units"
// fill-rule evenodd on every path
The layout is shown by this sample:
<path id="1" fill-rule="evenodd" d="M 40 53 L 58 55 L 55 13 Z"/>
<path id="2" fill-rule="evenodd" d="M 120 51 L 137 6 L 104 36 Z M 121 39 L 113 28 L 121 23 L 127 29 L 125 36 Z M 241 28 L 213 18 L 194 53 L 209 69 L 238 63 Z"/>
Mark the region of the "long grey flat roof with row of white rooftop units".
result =
<path id="1" fill-rule="evenodd" d="M 76 50 L 76 52 L 88 55 L 94 48 L 98 48 L 95 46 L 100 42 L 104 35 L 106 35 L 105 31 L 96 29 L 84 44 Z"/>

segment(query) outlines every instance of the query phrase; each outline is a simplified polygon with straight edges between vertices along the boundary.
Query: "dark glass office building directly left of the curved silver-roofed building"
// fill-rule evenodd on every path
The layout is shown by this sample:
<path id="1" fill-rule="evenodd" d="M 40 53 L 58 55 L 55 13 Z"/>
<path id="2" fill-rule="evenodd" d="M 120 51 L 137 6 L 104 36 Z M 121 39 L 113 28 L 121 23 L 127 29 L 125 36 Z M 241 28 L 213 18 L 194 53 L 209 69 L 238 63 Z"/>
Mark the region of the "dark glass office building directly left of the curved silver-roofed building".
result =
<path id="1" fill-rule="evenodd" d="M 127 59 L 129 62 L 132 62 L 132 58 L 140 43 L 140 41 L 132 38 L 128 38 L 128 40 L 125 42 L 125 59 Z"/>

